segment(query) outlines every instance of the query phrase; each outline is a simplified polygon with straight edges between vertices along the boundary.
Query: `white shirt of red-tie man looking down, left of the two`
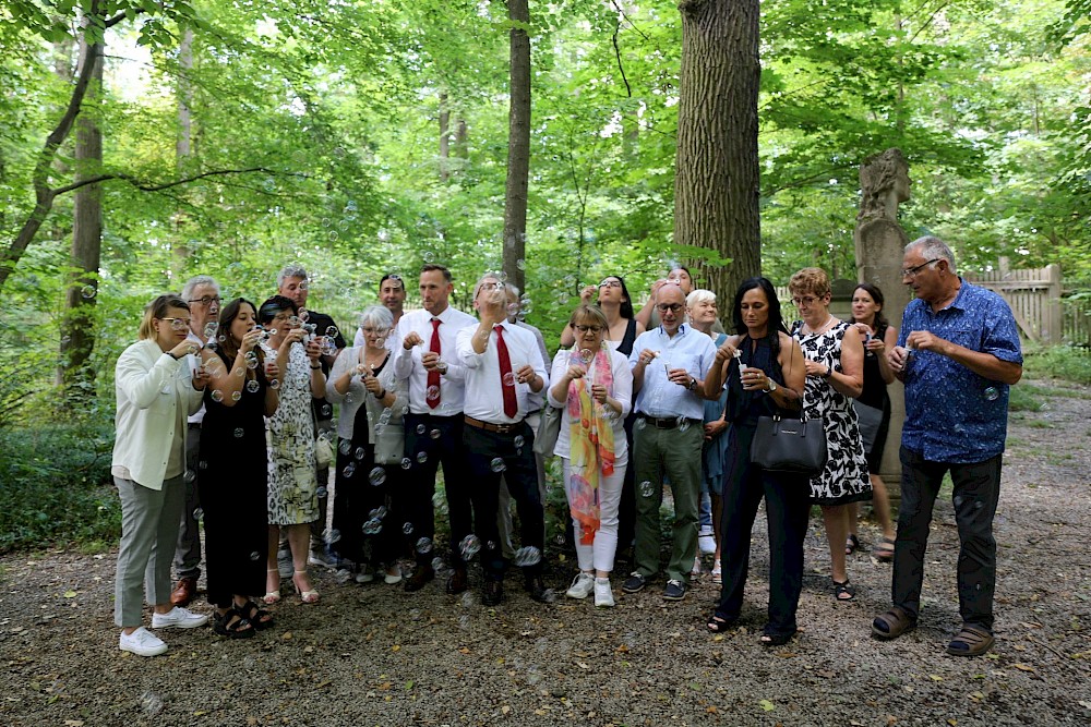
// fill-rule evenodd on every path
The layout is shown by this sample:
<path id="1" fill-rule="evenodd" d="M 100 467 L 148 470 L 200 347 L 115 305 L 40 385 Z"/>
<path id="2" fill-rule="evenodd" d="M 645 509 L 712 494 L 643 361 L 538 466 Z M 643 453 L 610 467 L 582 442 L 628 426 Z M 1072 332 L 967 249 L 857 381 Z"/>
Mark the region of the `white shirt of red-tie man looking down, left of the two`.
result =
<path id="1" fill-rule="evenodd" d="M 447 373 L 440 377 L 440 405 L 432 409 L 428 405 L 428 371 L 420 362 L 422 355 L 431 350 L 432 318 L 440 319 L 440 360 L 447 364 Z M 389 338 L 394 339 L 394 375 L 398 379 L 409 379 L 409 411 L 413 414 L 435 414 L 437 416 L 454 416 L 463 413 L 463 380 L 465 378 L 461 362 L 455 354 L 458 331 L 467 327 L 476 327 L 477 318 L 449 305 L 443 313 L 433 316 L 424 310 L 412 311 L 401 316 L 398 327 Z M 415 346 L 405 350 L 401 341 L 411 332 L 420 336 L 424 346 Z M 388 341 L 389 342 L 389 341 Z"/>

